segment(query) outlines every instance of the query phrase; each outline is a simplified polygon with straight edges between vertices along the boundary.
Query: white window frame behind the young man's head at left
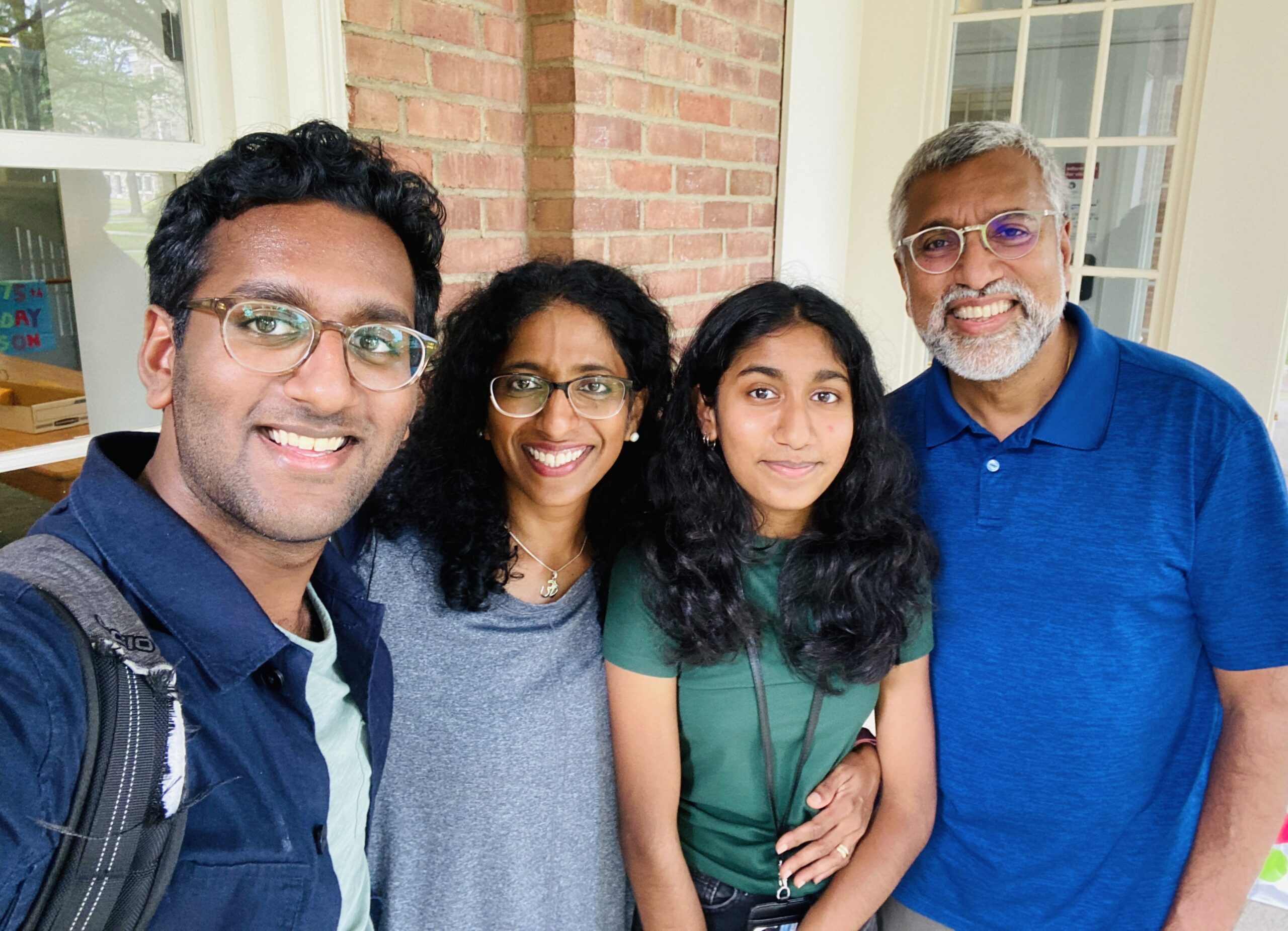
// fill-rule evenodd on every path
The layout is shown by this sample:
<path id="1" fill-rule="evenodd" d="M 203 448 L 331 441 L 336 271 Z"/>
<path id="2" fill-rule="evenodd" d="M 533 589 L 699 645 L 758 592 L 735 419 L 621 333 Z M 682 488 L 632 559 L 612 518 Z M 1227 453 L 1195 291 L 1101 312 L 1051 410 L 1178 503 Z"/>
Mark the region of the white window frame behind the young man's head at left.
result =
<path id="1" fill-rule="evenodd" d="M 180 10 L 189 142 L 0 130 L 0 165 L 183 175 L 252 130 L 313 117 L 348 125 L 344 0 L 180 0 Z M 75 274 L 75 254 L 68 264 Z M 82 358 L 93 352 L 81 346 Z M 111 399 L 90 399 L 89 435 L 0 451 L 0 473 L 84 456 L 95 402 Z"/>

